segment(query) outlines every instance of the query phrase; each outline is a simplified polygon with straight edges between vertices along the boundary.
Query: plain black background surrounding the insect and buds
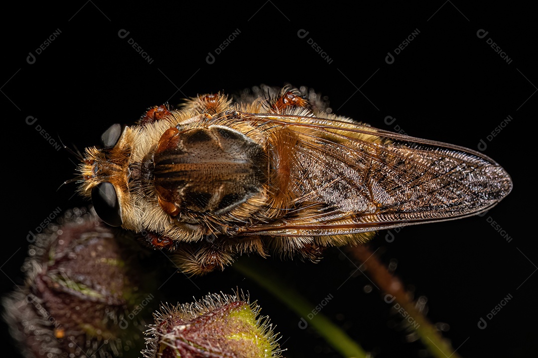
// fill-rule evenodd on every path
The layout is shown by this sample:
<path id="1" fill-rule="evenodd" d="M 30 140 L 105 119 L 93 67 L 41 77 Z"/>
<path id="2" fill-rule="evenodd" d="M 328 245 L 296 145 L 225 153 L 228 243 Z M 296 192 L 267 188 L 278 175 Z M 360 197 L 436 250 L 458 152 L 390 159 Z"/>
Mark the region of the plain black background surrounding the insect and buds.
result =
<path id="1" fill-rule="evenodd" d="M 61 138 L 84 148 L 97 144 L 111 123 L 130 123 L 147 107 L 165 101 L 175 104 L 197 93 L 291 83 L 313 87 L 329 97 L 336 113 L 375 127 L 399 126 L 409 135 L 475 150 L 485 141 L 484 153 L 514 181 L 504 201 L 483 217 L 402 229 L 391 243 L 381 231 L 372 250 L 379 247 L 384 262 L 398 260 L 396 274 L 416 296 L 428 298 L 428 318 L 450 326 L 444 335 L 463 357 L 535 354 L 533 128 L 538 76 L 533 6 L 443 1 L 351 7 L 279 1 L 14 6 L 4 12 L 1 24 L 7 230 L 0 254 L 2 294 L 23 282 L 20 266 L 29 231 L 57 207 L 85 204 L 73 196 L 74 184 L 56 191 L 74 177 L 76 159 L 55 150 L 37 125 L 55 142 Z M 416 29 L 416 38 L 394 55 Z M 485 38 L 477 36 L 480 29 L 488 32 Z M 36 55 L 58 30 L 57 38 Z M 120 30 L 129 31 L 126 38 L 118 36 Z M 237 30 L 236 38 L 216 55 L 215 49 Z M 300 30 L 308 31 L 305 38 L 298 36 Z M 129 45 L 131 38 L 151 57 L 151 64 Z M 511 63 L 487 44 L 489 38 Z M 323 59 L 308 39 L 332 61 Z M 36 56 L 32 64 L 27 62 L 30 52 Z M 212 64 L 206 61 L 209 52 L 215 55 Z M 385 61 L 388 52 L 395 57 L 392 64 Z M 512 121 L 487 140 L 508 115 Z M 33 125 L 26 123 L 29 116 L 37 118 Z M 386 116 L 396 120 L 387 125 Z M 490 225 L 492 220 L 510 242 Z M 334 296 L 322 313 L 374 355 L 424 353 L 420 342 L 406 342 L 406 334 L 392 327 L 400 319 L 391 313 L 391 305 L 375 288 L 364 292 L 370 281 L 357 275 L 356 266 L 340 251 L 329 250 L 317 265 L 268 263 L 312 308 Z M 193 279 L 195 284 L 172 269 L 169 275 L 162 290 L 170 302 L 239 287 L 250 291 L 277 324 L 286 356 L 339 356 L 310 327 L 301 330 L 300 317 L 232 268 Z M 507 295 L 511 301 L 487 319 Z M 484 330 L 477 326 L 480 317 L 487 322 Z M 4 347 L 7 353 L 2 355 L 12 356 L 12 345 Z"/>

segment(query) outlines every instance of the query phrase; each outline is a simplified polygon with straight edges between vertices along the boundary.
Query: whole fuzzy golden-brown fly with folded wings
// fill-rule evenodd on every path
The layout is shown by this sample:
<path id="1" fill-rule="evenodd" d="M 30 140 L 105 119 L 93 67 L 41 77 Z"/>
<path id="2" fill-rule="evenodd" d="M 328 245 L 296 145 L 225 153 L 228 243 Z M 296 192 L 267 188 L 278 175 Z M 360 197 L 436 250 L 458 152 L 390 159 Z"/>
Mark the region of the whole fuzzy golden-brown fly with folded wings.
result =
<path id="1" fill-rule="evenodd" d="M 245 253 L 316 261 L 376 230 L 478 214 L 512 189 L 479 152 L 353 122 L 317 98 L 266 87 L 153 107 L 86 149 L 80 192 L 103 221 L 204 274 Z"/>

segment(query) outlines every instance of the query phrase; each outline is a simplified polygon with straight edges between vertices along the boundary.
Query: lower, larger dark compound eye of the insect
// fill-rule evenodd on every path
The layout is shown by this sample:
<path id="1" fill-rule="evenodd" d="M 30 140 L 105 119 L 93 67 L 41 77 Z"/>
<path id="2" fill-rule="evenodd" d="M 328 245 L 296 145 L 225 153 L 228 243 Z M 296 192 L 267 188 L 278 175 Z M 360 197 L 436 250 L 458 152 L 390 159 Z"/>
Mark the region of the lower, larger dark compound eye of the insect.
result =
<path id="1" fill-rule="evenodd" d="M 122 225 L 122 207 L 119 205 L 114 185 L 106 181 L 97 184 L 91 189 L 91 201 L 102 221 L 112 227 Z"/>

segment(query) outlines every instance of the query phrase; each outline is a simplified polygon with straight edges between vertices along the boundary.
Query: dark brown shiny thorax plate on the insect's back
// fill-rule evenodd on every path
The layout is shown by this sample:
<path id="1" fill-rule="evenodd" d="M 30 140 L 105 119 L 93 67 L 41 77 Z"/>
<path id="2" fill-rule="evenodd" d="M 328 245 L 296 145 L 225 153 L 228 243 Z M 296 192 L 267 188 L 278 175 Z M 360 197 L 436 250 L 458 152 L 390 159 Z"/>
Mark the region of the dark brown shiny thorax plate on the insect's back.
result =
<path id="1" fill-rule="evenodd" d="M 222 126 L 169 128 L 151 163 L 159 204 L 171 216 L 225 214 L 261 192 L 267 181 L 261 145 Z"/>

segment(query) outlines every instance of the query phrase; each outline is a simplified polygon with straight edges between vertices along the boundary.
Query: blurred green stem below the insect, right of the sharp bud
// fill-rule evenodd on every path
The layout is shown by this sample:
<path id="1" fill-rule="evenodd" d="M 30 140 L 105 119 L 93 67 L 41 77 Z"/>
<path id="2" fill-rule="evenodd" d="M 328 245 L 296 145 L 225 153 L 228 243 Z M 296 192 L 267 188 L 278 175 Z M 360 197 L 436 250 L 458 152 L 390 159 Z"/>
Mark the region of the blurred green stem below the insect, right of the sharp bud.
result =
<path id="1" fill-rule="evenodd" d="M 299 317 L 308 317 L 315 305 L 309 303 L 292 287 L 285 287 L 285 284 L 271 273 L 271 269 L 264 266 L 265 264 L 258 265 L 258 263 L 257 265 L 246 265 L 244 260 L 241 260 L 233 264 L 232 267 L 256 281 L 261 287 L 284 302 Z M 369 356 L 357 342 L 353 341 L 340 327 L 321 313 L 317 313 L 314 318 L 308 321 L 308 324 L 312 324 L 315 330 L 344 357 L 366 358 Z"/>

